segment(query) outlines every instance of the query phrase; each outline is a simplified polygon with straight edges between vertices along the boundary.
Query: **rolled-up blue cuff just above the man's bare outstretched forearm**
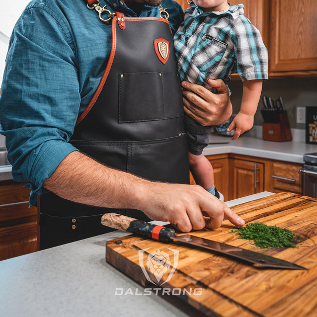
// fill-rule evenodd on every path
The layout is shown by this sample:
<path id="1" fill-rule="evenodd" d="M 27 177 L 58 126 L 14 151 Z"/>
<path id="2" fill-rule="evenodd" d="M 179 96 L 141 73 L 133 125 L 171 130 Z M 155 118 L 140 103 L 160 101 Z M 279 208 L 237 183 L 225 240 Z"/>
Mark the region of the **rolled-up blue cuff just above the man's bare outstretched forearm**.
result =
<path id="1" fill-rule="evenodd" d="M 48 192 L 43 182 L 52 175 L 65 157 L 78 150 L 70 143 L 61 140 L 50 140 L 42 143 L 32 151 L 29 157 L 29 179 L 27 187 L 31 188 L 30 207 L 36 205 L 37 195 Z"/>

